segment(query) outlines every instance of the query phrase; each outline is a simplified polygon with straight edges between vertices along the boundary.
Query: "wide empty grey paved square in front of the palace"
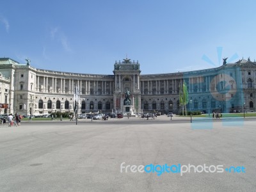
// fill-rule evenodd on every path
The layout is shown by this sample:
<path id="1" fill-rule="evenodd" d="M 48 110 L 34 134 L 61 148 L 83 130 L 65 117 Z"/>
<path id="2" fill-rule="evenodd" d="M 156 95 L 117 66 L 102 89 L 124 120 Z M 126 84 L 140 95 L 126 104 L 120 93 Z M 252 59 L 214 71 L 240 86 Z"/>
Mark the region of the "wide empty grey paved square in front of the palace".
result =
<path id="1" fill-rule="evenodd" d="M 232 121 L 232 120 L 230 120 Z M 204 122 L 202 122 L 204 124 Z M 255 119 L 240 126 L 159 117 L 0 127 L 1 191 L 255 191 Z M 243 166 L 245 173 L 125 173 L 129 165 Z"/>

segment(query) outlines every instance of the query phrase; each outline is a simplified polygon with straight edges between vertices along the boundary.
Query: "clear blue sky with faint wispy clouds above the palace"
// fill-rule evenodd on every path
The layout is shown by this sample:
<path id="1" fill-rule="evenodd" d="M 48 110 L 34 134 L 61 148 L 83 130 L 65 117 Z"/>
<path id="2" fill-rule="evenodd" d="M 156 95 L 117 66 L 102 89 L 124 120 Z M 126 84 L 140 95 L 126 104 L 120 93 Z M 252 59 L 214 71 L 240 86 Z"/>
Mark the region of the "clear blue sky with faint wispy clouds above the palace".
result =
<path id="1" fill-rule="evenodd" d="M 255 5 L 234 0 L 2 0 L 0 57 L 19 63 L 29 58 L 36 68 L 86 74 L 113 74 L 115 61 L 126 54 L 140 62 L 141 74 L 218 67 L 234 54 L 239 56 L 234 61 L 249 56 L 253 61 Z M 219 56 L 217 47 L 222 47 Z"/>

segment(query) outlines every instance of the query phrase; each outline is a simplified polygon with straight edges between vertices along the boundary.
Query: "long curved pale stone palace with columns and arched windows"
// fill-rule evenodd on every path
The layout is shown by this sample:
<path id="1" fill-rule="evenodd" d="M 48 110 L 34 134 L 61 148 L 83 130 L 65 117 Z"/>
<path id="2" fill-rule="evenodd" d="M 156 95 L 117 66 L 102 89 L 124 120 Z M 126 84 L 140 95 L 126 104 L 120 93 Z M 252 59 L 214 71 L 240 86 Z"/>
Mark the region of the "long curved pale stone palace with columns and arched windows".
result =
<path id="1" fill-rule="evenodd" d="M 212 113 L 255 111 L 256 62 L 239 60 L 216 68 L 166 74 L 141 74 L 138 61 L 115 62 L 113 74 L 80 74 L 34 68 L 0 58 L 0 113 L 43 115 L 79 113 L 180 112 L 179 92 L 188 88 L 187 110 Z M 124 105 L 125 92 L 131 106 Z"/>

